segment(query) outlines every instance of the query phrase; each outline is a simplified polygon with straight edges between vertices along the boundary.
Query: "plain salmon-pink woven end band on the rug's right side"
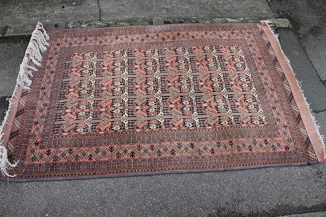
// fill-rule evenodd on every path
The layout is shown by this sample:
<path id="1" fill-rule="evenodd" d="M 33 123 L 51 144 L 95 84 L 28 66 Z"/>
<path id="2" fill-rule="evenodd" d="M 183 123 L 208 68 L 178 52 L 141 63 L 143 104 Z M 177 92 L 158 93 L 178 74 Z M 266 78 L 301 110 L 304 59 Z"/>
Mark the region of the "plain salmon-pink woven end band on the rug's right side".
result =
<path id="1" fill-rule="evenodd" d="M 270 45 L 273 48 L 275 55 L 281 65 L 283 73 L 287 81 L 289 82 L 291 92 L 296 102 L 296 106 L 298 107 L 298 110 L 301 114 L 302 121 L 307 130 L 307 134 L 309 136 L 317 159 L 319 163 L 324 162 L 326 161 L 325 145 L 314 121 L 314 117 L 310 112 L 309 105 L 306 101 L 303 91 L 301 90 L 298 81 L 295 77 L 295 74 L 290 66 L 289 60 L 284 54 L 280 42 L 274 34 L 273 30 L 270 28 L 270 26 L 265 22 L 261 22 L 261 24 L 262 29 L 264 30 L 264 33 L 266 34 L 268 41 L 270 42 Z"/>

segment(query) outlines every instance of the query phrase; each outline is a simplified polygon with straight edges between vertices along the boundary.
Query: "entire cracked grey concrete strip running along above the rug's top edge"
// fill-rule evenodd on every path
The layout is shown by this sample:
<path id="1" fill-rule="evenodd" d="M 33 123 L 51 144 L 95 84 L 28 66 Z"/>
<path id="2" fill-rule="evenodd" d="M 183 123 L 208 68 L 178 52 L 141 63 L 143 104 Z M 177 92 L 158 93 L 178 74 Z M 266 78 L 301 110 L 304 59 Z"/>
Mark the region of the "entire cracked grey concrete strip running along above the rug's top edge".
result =
<path id="1" fill-rule="evenodd" d="M 50 28 L 65 28 L 69 22 L 139 24 L 140 20 L 151 23 L 155 17 L 274 18 L 264 0 L 0 0 L 0 5 L 0 33 L 5 36 L 30 35 L 37 21 Z"/>

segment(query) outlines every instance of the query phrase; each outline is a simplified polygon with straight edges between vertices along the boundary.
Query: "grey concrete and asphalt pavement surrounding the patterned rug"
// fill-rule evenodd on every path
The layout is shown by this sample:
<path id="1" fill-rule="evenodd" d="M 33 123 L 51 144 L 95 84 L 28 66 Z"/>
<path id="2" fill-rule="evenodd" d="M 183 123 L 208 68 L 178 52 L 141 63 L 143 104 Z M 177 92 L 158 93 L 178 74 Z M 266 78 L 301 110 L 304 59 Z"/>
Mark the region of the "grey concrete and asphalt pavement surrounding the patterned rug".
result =
<path id="1" fill-rule="evenodd" d="M 37 19 L 41 22 L 44 20 L 43 24 L 48 23 L 49 27 L 56 23 L 62 23 L 58 27 L 65 27 L 69 22 L 99 20 L 99 12 L 101 22 L 112 21 L 115 25 L 117 22 L 131 23 L 139 19 L 151 24 L 155 17 L 171 19 L 172 22 L 191 17 L 206 17 L 206 20 L 209 17 L 277 17 L 288 18 L 293 25 L 293 28 L 277 29 L 280 43 L 298 80 L 302 81 L 305 96 L 311 103 L 321 134 L 326 135 L 326 87 L 322 77 L 326 68 L 322 66 L 324 61 L 318 57 L 325 53 L 318 50 L 323 39 L 318 41 L 316 35 L 302 35 L 301 32 L 301 29 L 310 29 L 319 23 L 322 36 L 325 34 L 324 24 L 314 22 L 312 17 L 309 22 L 296 19 L 301 13 L 302 16 L 309 17 L 303 13 L 305 7 L 308 7 L 304 3 L 308 1 L 289 1 L 295 7 L 288 6 L 291 7 L 288 11 L 290 14 L 285 17 L 280 15 L 287 10 L 287 4 L 281 3 L 283 1 L 187 0 L 181 6 L 176 1 L 161 3 L 155 0 L 147 3 L 129 3 L 123 0 L 118 4 L 104 0 L 39 2 L 40 5 L 36 7 L 29 0 L 11 3 L 0 0 L 1 5 L 5 5 L 0 7 L 0 27 L 8 26 L 5 37 L 0 38 L 0 120 L 8 106 L 7 99 L 14 89 L 19 64 L 29 41 L 29 37 L 16 36 L 30 34 L 31 28 L 23 26 L 33 26 Z M 322 1 L 315 2 L 318 6 Z M 308 5 L 311 16 L 319 15 L 319 8 Z M 326 9 L 325 6 L 319 6 Z M 73 12 L 69 15 L 68 10 Z M 308 45 L 315 49 L 316 54 L 309 54 Z M 319 60 L 312 60 L 316 56 Z M 326 216 L 325 174 L 326 163 L 321 163 L 310 166 L 88 180 L 20 183 L 1 181 L 0 215 Z"/>

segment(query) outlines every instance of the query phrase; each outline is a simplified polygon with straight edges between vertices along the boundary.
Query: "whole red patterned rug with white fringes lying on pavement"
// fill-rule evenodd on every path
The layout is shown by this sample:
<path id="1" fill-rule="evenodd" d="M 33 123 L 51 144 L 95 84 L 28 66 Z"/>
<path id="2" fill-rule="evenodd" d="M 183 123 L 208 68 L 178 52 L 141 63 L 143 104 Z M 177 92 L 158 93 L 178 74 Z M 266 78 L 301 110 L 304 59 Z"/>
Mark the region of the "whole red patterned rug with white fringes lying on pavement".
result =
<path id="1" fill-rule="evenodd" d="M 9 110 L 5 180 L 325 161 L 302 91 L 266 23 L 38 23 Z"/>

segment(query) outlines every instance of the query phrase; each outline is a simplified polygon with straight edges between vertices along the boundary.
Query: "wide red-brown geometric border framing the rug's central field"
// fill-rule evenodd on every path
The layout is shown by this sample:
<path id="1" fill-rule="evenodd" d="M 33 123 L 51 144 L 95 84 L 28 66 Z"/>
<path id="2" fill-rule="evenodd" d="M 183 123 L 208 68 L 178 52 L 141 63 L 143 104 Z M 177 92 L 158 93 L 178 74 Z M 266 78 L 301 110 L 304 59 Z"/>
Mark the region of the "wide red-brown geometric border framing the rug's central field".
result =
<path id="1" fill-rule="evenodd" d="M 42 67 L 32 78 L 31 91 L 22 92 L 7 145 L 9 159 L 20 160 L 14 169 L 15 173 L 21 173 L 17 179 L 101 177 L 317 161 L 289 84 L 261 24 L 46 30 L 51 46 L 43 53 Z M 64 76 L 66 70 L 66 65 L 61 63 L 73 50 L 98 53 L 132 46 L 148 50 L 152 46 L 182 48 L 189 44 L 241 47 L 250 62 L 250 73 L 260 96 L 259 103 L 266 118 L 263 126 L 220 127 L 214 128 L 220 129 L 216 134 L 208 132 L 206 135 L 201 133 L 205 129 L 197 129 L 196 133 L 169 129 L 171 132 L 164 134 L 167 136 L 156 140 L 151 139 L 155 134 L 142 131 L 128 132 L 125 140 L 123 135 L 119 137 L 125 132 L 85 134 L 88 139 L 77 134 L 82 139 L 72 143 L 69 141 L 77 140 L 69 135 L 51 136 L 56 130 L 49 118 L 56 117 L 59 105 L 56 100 L 60 99 L 56 92 L 59 90 L 60 94 L 63 82 L 60 76 Z M 157 132 L 161 130 L 155 132 L 156 137 Z M 139 139 L 139 133 L 147 134 L 146 142 Z M 104 136 L 96 138 L 98 135 Z"/>

